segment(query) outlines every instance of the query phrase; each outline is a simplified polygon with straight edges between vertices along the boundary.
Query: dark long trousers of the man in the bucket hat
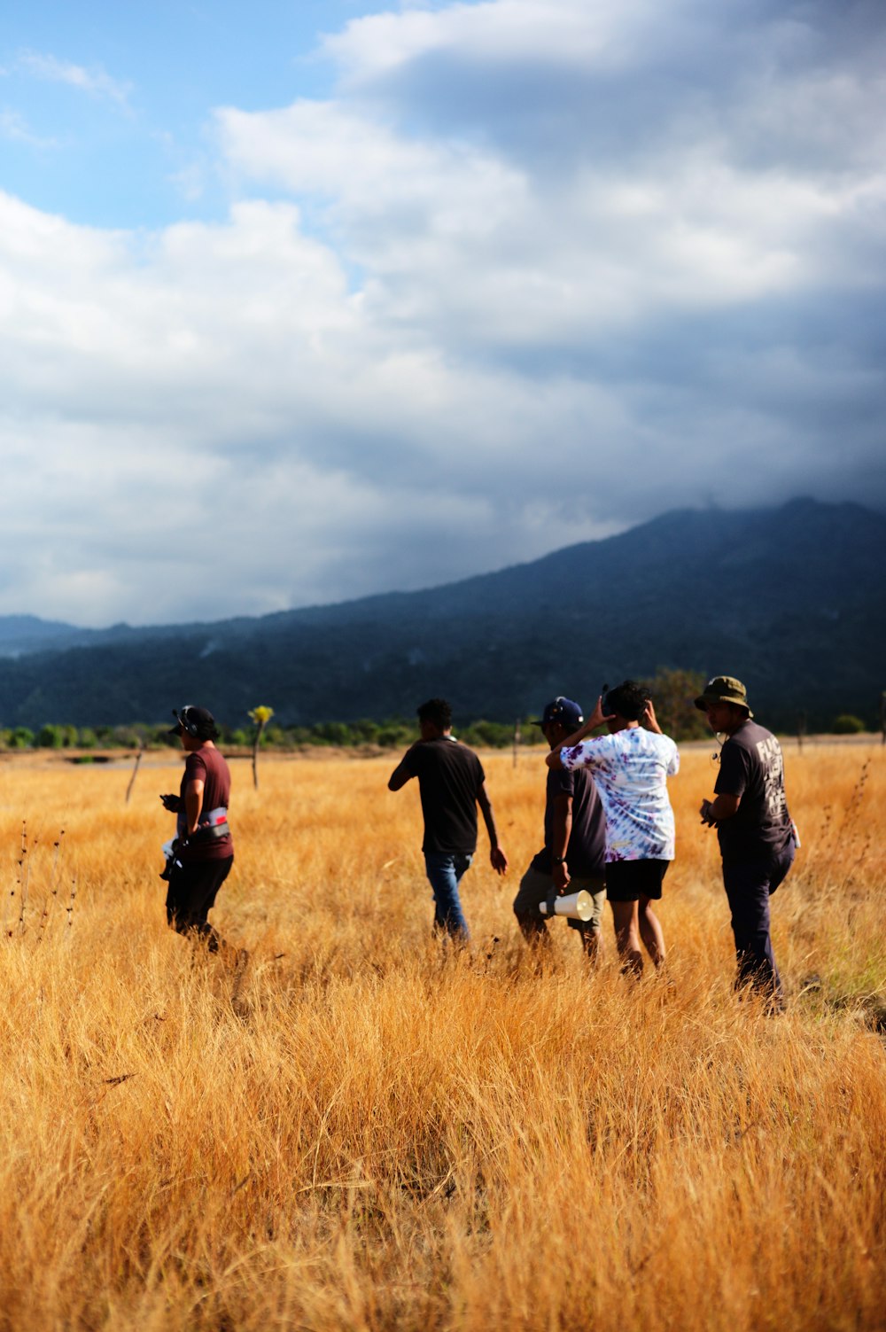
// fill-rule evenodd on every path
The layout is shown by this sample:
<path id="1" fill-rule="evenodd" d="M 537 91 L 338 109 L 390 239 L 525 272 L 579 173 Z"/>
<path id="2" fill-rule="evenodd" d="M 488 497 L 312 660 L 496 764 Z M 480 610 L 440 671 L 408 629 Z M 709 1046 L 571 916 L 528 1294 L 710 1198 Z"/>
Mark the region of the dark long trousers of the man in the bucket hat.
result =
<path id="1" fill-rule="evenodd" d="M 733 914 L 735 988 L 750 984 L 781 1006 L 782 984 L 769 932 L 769 899 L 794 863 L 794 843 L 765 860 L 749 864 L 723 862 L 723 887 Z"/>

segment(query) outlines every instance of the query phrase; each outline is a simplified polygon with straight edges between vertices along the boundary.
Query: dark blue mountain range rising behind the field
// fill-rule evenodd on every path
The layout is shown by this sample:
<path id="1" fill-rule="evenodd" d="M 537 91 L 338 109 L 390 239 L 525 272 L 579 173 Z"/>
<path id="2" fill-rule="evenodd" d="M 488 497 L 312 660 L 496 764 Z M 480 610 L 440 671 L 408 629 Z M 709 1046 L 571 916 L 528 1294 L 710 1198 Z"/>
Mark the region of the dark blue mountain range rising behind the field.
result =
<path id="1" fill-rule="evenodd" d="M 886 515 L 794 500 L 681 510 L 492 574 L 215 623 L 88 630 L 0 617 L 0 725 L 117 725 L 199 702 L 230 726 L 413 715 L 508 721 L 660 667 L 738 675 L 773 725 L 877 717 Z"/>

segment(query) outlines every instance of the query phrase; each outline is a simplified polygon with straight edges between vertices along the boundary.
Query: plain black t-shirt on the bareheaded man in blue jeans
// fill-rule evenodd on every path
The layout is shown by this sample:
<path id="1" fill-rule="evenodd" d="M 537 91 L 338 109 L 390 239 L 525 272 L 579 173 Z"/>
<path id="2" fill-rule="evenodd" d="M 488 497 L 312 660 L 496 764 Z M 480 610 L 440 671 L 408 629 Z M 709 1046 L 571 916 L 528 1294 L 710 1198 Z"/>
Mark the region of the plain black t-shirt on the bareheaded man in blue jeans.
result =
<path id="1" fill-rule="evenodd" d="M 477 850 L 477 794 L 484 770 L 473 750 L 449 735 L 418 741 L 404 763 L 418 778 L 425 815 L 422 851 L 473 855 Z"/>

